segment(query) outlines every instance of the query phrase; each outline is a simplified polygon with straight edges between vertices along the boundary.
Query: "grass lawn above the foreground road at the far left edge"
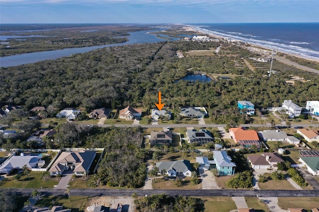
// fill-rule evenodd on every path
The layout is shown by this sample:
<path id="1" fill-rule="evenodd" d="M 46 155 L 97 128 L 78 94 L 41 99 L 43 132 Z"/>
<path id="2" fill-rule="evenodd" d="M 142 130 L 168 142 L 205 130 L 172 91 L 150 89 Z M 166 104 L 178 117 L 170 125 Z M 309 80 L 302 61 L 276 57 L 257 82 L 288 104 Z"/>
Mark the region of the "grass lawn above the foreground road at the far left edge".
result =
<path id="1" fill-rule="evenodd" d="M 58 181 L 55 180 L 55 178 L 52 178 L 48 181 L 43 181 L 41 177 L 42 172 L 30 172 L 29 177 L 30 180 L 28 180 L 28 176 L 24 175 L 21 177 L 19 181 L 14 180 L 14 176 L 9 178 L 4 178 L 1 181 L 2 188 L 34 188 L 39 189 L 41 187 L 43 188 L 53 188 L 54 185 L 58 185 Z"/>

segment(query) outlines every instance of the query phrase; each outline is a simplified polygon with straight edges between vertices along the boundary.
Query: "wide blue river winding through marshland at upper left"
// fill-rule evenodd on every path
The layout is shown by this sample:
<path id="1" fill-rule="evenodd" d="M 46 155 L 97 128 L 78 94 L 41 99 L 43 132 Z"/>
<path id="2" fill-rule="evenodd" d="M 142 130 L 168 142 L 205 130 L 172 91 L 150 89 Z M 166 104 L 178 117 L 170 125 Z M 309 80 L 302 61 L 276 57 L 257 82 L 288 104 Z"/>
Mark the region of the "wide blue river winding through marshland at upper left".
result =
<path id="1" fill-rule="evenodd" d="M 164 39 L 161 39 L 157 37 L 155 34 L 150 34 L 148 32 L 154 32 L 154 31 L 160 31 L 160 30 L 163 30 L 163 29 L 129 32 L 130 33 L 130 36 L 128 36 L 129 41 L 125 43 L 114 43 L 114 44 L 108 44 L 108 45 L 79 47 L 79 48 L 67 48 L 67 49 L 60 49 L 60 50 L 32 52 L 32 53 L 0 57 L 0 67 L 18 66 L 18 65 L 28 64 L 28 63 L 35 63 L 35 62 L 43 61 L 43 60 L 55 60 L 61 57 L 68 57 L 72 54 L 85 53 L 94 49 L 110 47 L 110 46 L 123 46 L 123 45 L 134 44 L 134 43 L 156 43 L 156 42 L 163 41 Z"/>

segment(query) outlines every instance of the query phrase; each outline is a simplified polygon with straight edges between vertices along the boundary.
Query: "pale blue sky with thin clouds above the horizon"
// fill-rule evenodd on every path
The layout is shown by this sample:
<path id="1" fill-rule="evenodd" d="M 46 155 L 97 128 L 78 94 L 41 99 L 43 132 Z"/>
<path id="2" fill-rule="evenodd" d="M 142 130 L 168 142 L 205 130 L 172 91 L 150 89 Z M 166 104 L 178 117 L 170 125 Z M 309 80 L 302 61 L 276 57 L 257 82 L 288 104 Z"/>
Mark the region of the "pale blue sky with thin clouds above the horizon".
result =
<path id="1" fill-rule="evenodd" d="M 0 0 L 0 23 L 319 22 L 319 0 Z"/>

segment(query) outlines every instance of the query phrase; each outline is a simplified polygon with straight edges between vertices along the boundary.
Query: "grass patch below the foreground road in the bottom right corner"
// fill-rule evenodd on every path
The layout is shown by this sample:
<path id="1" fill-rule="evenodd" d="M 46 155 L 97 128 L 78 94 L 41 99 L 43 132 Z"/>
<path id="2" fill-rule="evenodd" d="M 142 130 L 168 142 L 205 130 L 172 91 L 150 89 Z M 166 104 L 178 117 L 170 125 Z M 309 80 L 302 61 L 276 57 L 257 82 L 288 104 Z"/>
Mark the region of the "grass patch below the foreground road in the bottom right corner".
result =
<path id="1" fill-rule="evenodd" d="M 319 197 L 279 197 L 278 206 L 284 210 L 288 208 L 311 210 L 319 208 Z"/>

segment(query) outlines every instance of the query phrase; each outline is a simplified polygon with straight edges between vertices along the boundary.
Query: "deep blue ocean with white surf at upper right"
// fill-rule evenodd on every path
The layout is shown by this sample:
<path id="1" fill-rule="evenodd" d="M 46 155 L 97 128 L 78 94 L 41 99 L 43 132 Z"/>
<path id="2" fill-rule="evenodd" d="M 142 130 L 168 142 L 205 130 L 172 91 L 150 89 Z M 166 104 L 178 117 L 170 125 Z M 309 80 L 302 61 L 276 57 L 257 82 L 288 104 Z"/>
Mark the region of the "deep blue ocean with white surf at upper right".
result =
<path id="1" fill-rule="evenodd" d="M 216 35 L 319 59 L 319 23 L 191 24 Z"/>

